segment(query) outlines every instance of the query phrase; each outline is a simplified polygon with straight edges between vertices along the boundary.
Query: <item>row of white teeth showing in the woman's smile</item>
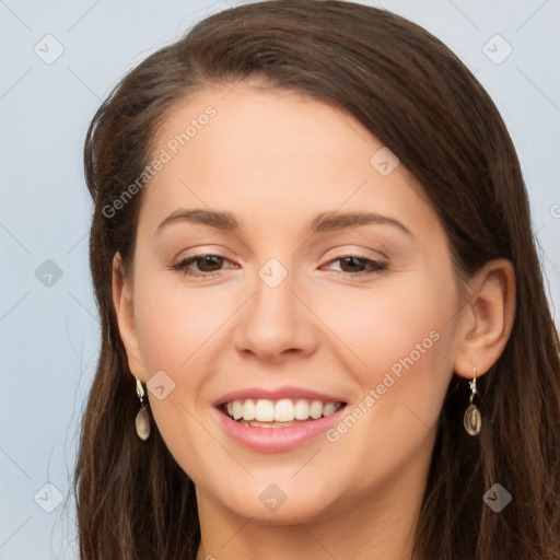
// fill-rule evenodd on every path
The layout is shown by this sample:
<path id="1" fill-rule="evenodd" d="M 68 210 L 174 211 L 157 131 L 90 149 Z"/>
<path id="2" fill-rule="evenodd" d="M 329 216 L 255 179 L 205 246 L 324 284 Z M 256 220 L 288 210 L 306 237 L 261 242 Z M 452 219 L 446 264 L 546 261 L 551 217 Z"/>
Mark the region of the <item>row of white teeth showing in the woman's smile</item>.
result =
<path id="1" fill-rule="evenodd" d="M 292 400 L 282 398 L 276 401 L 261 398 L 256 402 L 247 398 L 244 400 L 232 400 L 228 402 L 228 415 L 234 420 L 249 422 L 250 425 L 260 425 L 266 422 L 267 427 L 292 425 L 298 421 L 308 420 L 310 417 L 317 420 L 336 412 L 342 406 L 341 402 L 322 402 L 320 400 Z M 242 420 L 243 419 L 243 420 Z"/>

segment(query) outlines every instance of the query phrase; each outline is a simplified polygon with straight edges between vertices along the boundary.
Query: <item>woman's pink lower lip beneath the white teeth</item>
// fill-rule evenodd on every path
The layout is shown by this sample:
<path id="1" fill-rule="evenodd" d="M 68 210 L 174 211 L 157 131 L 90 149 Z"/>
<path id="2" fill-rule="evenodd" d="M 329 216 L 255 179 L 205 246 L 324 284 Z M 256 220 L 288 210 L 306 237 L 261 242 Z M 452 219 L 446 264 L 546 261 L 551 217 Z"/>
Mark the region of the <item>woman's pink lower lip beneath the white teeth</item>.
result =
<path id="1" fill-rule="evenodd" d="M 345 408 L 346 406 L 325 418 L 310 420 L 288 428 L 254 428 L 232 420 L 217 408 L 214 408 L 214 412 L 228 435 L 238 444 L 260 453 L 278 453 L 300 447 L 317 435 L 325 433 L 339 421 Z"/>

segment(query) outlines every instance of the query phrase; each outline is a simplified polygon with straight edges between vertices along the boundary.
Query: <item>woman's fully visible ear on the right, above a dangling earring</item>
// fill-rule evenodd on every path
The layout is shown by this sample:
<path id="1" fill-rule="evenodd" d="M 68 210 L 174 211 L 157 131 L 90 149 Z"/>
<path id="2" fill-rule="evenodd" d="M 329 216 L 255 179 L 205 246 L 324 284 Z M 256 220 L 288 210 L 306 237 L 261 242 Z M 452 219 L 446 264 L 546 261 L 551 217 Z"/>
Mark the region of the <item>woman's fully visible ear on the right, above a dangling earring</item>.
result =
<path id="1" fill-rule="evenodd" d="M 487 262 L 468 281 L 469 299 L 460 318 L 455 373 L 485 374 L 498 361 L 515 318 L 515 272 L 511 261 Z"/>

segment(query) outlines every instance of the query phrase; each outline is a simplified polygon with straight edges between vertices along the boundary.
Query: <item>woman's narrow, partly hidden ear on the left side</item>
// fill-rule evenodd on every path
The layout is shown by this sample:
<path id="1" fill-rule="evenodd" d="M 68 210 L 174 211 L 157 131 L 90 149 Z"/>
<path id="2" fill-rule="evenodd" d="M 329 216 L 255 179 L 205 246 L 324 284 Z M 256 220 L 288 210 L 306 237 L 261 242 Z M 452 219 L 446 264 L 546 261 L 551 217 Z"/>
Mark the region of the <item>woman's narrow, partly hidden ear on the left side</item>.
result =
<path id="1" fill-rule="evenodd" d="M 113 306 L 117 316 L 120 339 L 125 346 L 128 358 L 128 366 L 132 375 L 145 382 L 145 375 L 142 366 L 140 346 L 135 325 L 133 300 L 132 300 L 132 279 L 130 273 L 126 273 L 120 254 L 113 257 Z"/>

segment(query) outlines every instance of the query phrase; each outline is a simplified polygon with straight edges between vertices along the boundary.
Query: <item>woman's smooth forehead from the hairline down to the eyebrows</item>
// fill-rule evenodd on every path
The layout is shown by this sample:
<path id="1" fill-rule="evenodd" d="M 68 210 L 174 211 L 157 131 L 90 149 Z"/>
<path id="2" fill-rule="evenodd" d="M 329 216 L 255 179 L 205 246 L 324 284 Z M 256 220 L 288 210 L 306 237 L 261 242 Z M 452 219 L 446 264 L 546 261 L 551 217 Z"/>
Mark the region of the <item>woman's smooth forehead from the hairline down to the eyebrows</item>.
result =
<path id="1" fill-rule="evenodd" d="M 338 208 L 416 209 L 410 219 L 419 221 L 431 211 L 413 177 L 354 117 L 293 91 L 203 90 L 168 113 L 158 158 L 144 206 L 162 219 L 178 207 L 234 211 L 242 222 L 312 220 Z"/>

